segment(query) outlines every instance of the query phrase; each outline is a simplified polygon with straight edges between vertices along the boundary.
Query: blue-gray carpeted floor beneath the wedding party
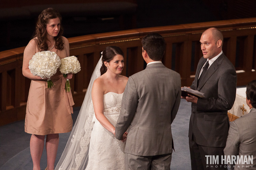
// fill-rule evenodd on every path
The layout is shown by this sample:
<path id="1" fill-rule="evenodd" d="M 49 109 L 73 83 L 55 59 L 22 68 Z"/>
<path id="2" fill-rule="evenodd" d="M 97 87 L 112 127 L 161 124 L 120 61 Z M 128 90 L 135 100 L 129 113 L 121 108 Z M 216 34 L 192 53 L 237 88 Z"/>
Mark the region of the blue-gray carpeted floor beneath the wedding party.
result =
<path id="1" fill-rule="evenodd" d="M 175 152 L 172 154 L 171 169 L 190 170 L 190 156 L 188 147 L 188 123 L 191 104 L 181 100 L 180 108 L 172 124 L 172 134 Z M 73 121 L 79 113 L 80 107 L 74 108 Z M 66 146 L 70 133 L 60 134 L 60 142 L 55 165 Z M 24 121 L 0 126 L 0 170 L 31 170 L 33 169 L 30 155 L 30 134 L 24 132 Z M 41 169 L 46 167 L 46 151 L 44 148 L 41 158 Z"/>

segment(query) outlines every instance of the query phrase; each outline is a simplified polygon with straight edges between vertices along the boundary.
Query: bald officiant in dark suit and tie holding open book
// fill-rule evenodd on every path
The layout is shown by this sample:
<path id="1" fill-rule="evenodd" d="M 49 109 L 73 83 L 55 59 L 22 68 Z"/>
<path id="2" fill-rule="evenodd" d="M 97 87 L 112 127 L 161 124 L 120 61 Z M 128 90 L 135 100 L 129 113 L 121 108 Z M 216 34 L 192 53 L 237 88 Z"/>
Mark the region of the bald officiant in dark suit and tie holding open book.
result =
<path id="1" fill-rule="evenodd" d="M 207 29 L 200 43 L 203 57 L 190 88 L 203 92 L 205 98 L 186 97 L 192 103 L 188 132 L 191 169 L 227 169 L 221 161 L 218 165 L 207 165 L 205 155 L 218 155 L 219 160 L 224 155 L 229 129 L 227 111 L 236 98 L 237 74 L 222 51 L 221 31 Z"/>

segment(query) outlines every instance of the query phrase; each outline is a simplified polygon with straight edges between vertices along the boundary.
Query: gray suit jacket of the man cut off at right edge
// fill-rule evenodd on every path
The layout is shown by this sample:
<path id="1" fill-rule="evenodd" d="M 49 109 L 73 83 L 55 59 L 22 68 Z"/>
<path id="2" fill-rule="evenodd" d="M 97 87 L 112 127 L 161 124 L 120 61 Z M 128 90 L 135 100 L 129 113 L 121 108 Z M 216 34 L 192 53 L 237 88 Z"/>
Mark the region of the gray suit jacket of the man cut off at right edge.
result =
<path id="1" fill-rule="evenodd" d="M 252 108 L 250 113 L 244 115 L 230 124 L 227 144 L 224 149 L 225 155 L 253 155 L 253 168 L 256 168 L 256 108 Z M 248 158 L 248 157 L 247 157 Z M 239 168 L 238 168 L 239 166 Z M 244 165 L 246 166 L 246 165 Z M 247 165 L 251 168 L 251 165 Z M 247 169 L 250 169 L 247 168 Z M 231 169 L 246 169 L 237 164 Z"/>

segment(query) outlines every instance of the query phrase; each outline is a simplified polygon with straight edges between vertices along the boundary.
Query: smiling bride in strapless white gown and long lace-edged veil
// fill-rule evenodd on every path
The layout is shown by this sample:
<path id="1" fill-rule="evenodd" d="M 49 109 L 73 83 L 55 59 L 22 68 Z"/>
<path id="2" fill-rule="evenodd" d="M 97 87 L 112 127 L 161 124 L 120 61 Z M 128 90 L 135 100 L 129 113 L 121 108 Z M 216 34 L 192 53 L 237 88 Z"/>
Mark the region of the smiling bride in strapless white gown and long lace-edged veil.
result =
<path id="1" fill-rule="evenodd" d="M 124 68 L 123 56 L 123 51 L 116 46 L 106 47 L 102 52 L 55 170 L 125 169 L 124 141 L 127 133 L 122 141 L 114 136 L 128 81 L 127 77 L 120 75 Z"/>

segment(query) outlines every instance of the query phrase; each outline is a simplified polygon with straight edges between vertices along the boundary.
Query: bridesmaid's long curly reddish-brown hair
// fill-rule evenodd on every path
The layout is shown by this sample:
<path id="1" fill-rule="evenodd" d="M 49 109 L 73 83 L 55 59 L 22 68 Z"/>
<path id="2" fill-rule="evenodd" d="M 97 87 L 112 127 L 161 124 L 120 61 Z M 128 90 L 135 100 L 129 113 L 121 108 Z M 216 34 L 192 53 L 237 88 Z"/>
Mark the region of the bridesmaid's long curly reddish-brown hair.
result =
<path id="1" fill-rule="evenodd" d="M 61 22 L 61 16 L 60 13 L 53 9 L 53 8 L 47 8 L 41 12 L 41 14 L 38 16 L 37 24 L 35 26 L 35 32 L 33 38 L 37 37 L 38 39 L 38 47 L 42 51 L 47 51 L 48 50 L 48 45 L 46 43 L 47 38 L 47 31 L 46 31 L 46 24 L 49 22 L 50 19 L 55 19 L 59 18 Z M 62 40 L 62 34 L 63 34 L 63 28 L 60 24 L 60 30 L 59 33 L 55 39 L 55 48 L 58 50 L 63 50 L 64 49 L 64 43 Z"/>

